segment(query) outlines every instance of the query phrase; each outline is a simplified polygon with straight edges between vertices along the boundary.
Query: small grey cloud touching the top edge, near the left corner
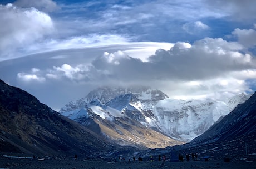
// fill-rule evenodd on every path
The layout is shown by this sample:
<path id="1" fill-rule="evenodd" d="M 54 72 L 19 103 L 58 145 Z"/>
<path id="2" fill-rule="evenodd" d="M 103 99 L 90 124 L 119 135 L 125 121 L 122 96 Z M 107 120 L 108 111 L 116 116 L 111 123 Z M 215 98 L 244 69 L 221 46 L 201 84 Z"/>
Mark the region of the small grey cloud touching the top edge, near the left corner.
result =
<path id="1" fill-rule="evenodd" d="M 52 12 L 58 8 L 56 2 L 52 0 L 17 0 L 13 4 L 22 8 L 33 7 L 44 12 Z"/>

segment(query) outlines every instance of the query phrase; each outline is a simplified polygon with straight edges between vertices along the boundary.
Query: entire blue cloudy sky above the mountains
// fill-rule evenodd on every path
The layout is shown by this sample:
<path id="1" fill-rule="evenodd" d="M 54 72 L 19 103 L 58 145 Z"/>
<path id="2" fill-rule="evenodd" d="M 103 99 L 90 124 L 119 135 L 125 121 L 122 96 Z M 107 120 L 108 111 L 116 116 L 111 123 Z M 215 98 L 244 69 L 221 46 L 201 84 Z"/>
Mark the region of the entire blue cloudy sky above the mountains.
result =
<path id="1" fill-rule="evenodd" d="M 99 86 L 256 90 L 256 1 L 0 1 L 0 79 L 59 110 Z"/>

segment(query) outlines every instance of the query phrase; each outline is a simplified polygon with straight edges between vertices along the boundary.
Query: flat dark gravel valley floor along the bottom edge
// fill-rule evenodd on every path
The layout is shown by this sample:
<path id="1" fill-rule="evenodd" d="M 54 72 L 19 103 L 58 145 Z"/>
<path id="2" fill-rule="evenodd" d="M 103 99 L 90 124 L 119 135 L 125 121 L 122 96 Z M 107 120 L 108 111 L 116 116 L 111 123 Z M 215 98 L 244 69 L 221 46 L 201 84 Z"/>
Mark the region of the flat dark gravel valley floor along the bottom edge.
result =
<path id="1" fill-rule="evenodd" d="M 111 161 L 101 161 L 101 160 L 32 160 L 32 159 L 0 159 L 0 169 L 3 168 L 13 168 L 13 169 L 147 169 L 147 168 L 221 168 L 221 169 L 256 169 L 256 162 L 245 162 L 245 161 L 235 161 L 235 162 L 222 162 L 222 161 L 190 161 L 190 162 L 169 162 L 166 161 L 164 164 L 162 162 L 112 162 Z"/>

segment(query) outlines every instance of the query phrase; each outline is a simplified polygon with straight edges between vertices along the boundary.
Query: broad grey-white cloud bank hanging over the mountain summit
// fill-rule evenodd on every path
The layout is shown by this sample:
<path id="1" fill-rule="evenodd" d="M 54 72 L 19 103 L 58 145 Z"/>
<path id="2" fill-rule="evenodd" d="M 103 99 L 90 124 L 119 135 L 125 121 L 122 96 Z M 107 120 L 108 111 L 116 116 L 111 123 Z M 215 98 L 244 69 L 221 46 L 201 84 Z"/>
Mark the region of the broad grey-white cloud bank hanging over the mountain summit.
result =
<path id="1" fill-rule="evenodd" d="M 175 99 L 216 99 L 253 90 L 252 84 L 256 79 L 255 57 L 243 52 L 244 46 L 238 42 L 204 38 L 193 44 L 169 44 L 169 49 L 167 44 L 162 45 L 166 49 L 159 49 L 146 59 L 143 56 L 144 60 L 137 55 L 161 44 L 128 43 L 74 49 L 70 56 L 55 59 L 51 59 L 52 55 L 61 55 L 62 50 L 37 54 L 33 58 L 42 59 L 40 56 L 47 55 L 50 60 L 42 60 L 38 67 L 33 66 L 29 71 L 19 71 L 16 77 L 18 81 L 26 82 L 24 89 L 32 90 L 32 94 L 40 96 L 44 103 L 57 108 L 102 85 L 147 85 L 163 90 Z M 125 50 L 130 54 L 135 50 L 138 54 L 136 58 L 131 57 Z M 68 54 L 68 51 L 64 53 Z M 83 54 L 78 56 L 76 52 Z M 43 63 L 53 66 L 46 64 L 42 68 Z M 47 92 L 38 93 L 33 82 L 41 84 L 40 88 Z M 50 93 L 51 101 L 48 99 Z M 62 98 L 58 99 L 60 96 Z"/>

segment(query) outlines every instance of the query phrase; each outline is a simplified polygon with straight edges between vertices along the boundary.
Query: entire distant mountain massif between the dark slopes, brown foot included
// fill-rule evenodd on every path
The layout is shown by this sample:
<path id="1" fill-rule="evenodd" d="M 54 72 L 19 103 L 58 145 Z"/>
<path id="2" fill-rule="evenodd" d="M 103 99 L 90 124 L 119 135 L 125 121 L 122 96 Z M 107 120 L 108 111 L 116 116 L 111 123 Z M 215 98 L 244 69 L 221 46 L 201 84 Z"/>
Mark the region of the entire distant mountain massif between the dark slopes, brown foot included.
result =
<path id="1" fill-rule="evenodd" d="M 102 87 L 91 91 L 85 98 L 70 101 L 60 113 L 120 144 L 139 143 L 147 148 L 163 148 L 203 134 L 220 117 L 229 114 L 249 97 L 240 94 L 223 100 L 185 101 L 170 99 L 162 91 L 145 86 Z M 123 121 L 133 130 L 127 132 Z M 143 141 L 145 132 L 137 132 L 141 127 L 163 140 L 147 138 L 147 142 Z M 133 135 L 132 138 L 122 132 L 124 129 Z"/>

